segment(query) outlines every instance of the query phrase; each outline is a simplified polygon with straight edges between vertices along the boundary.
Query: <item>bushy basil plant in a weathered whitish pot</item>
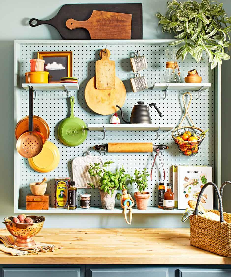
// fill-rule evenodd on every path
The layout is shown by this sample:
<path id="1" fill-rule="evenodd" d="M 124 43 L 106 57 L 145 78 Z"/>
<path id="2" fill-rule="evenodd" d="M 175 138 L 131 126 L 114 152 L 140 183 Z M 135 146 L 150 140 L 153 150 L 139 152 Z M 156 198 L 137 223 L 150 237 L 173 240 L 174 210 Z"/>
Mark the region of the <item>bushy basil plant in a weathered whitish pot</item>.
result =
<path id="1" fill-rule="evenodd" d="M 90 163 L 90 169 L 88 173 L 90 176 L 99 176 L 99 190 L 100 190 L 100 198 L 103 209 L 114 209 L 115 207 L 115 197 L 116 190 L 126 187 L 126 181 L 130 179 L 129 174 L 125 174 L 125 170 L 123 165 L 116 169 L 114 173 L 107 170 L 107 167 L 110 166 L 113 161 L 106 161 L 103 164 L 103 168 L 100 167 L 100 163 L 95 163 L 92 165 Z M 95 188 L 94 184 L 89 183 L 92 188 Z"/>

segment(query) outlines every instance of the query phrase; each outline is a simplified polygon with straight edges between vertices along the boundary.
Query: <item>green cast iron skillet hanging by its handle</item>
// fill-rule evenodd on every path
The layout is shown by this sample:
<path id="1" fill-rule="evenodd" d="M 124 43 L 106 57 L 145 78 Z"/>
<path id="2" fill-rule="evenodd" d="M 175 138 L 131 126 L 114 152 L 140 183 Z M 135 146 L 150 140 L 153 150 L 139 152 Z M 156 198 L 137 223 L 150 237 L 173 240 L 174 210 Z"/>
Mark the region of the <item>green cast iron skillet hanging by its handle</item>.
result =
<path id="1" fill-rule="evenodd" d="M 71 115 L 61 121 L 58 127 L 59 140 L 67 146 L 77 146 L 84 142 L 87 137 L 87 125 L 74 116 L 74 97 L 70 97 Z"/>

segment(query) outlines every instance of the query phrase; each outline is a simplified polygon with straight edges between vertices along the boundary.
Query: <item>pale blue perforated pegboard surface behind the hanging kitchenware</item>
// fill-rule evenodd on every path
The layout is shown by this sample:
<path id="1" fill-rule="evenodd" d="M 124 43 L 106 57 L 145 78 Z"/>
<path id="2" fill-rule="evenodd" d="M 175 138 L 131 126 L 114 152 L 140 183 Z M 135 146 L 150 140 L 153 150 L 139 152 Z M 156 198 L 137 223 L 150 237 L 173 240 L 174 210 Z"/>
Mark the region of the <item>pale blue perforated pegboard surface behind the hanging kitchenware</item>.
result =
<path id="1" fill-rule="evenodd" d="M 111 116 L 102 116 L 95 114 L 89 109 L 84 100 L 84 88 L 87 81 L 95 75 L 95 61 L 99 59 L 99 52 L 105 48 L 106 41 L 49 41 L 36 42 L 24 41 L 18 43 L 16 50 L 17 61 L 17 118 L 15 124 L 20 118 L 28 115 L 28 91 L 21 87 L 25 83 L 25 72 L 30 71 L 30 59 L 37 58 L 38 51 L 72 51 L 73 52 L 73 76 L 79 79 L 79 91 L 72 91 L 75 97 L 74 114 L 76 117 L 84 120 L 86 124 L 109 124 Z M 152 90 L 154 83 L 163 82 L 165 73 L 165 52 L 169 48 L 179 48 L 170 46 L 168 42 L 159 43 L 158 41 L 107 41 L 107 49 L 110 50 L 111 60 L 116 62 L 116 76 L 124 83 L 127 91 L 126 101 L 123 106 L 124 118 L 129 120 L 132 108 L 137 101 L 144 101 L 145 104 L 156 103 L 163 114 L 160 118 L 155 109 L 151 109 L 152 123 L 157 126 L 172 125 L 177 126 L 183 113 L 182 95 L 185 91 L 171 91 L 167 93 L 167 98 L 163 99 L 163 91 Z M 131 70 L 129 58 L 134 56 L 134 52 L 139 51 L 145 55 L 148 63 L 146 70 L 140 71 L 147 79 L 149 89 L 138 93 L 133 93 L 130 86 L 130 78 L 134 77 Z M 20 53 L 20 54 L 19 54 Z M 156 133 L 147 131 L 108 131 L 106 139 L 102 140 L 103 134 L 98 131 L 88 131 L 87 139 L 77 147 L 67 147 L 59 142 L 57 129 L 58 125 L 67 116 L 70 115 L 69 99 L 65 91 L 39 91 L 34 100 L 33 114 L 46 120 L 50 127 L 49 140 L 53 142 L 60 151 L 61 160 L 59 166 L 47 174 L 37 173 L 30 168 L 27 159 L 17 155 L 20 165 L 18 169 L 19 179 L 17 180 L 16 195 L 18 195 L 19 206 L 25 206 L 25 196 L 30 193 L 29 183 L 41 181 L 44 176 L 47 177 L 47 193 L 50 194 L 50 205 L 54 206 L 54 178 L 67 177 L 72 178 L 72 160 L 82 156 L 87 150 L 92 152 L 92 156 L 99 156 L 92 147 L 96 144 L 106 144 L 107 142 L 153 142 L 154 144 L 166 144 L 169 149 L 163 153 L 163 163 L 166 168 L 166 182 L 172 182 L 171 165 L 208 165 L 214 166 L 214 70 L 210 70 L 207 57 L 204 57 L 198 64 L 188 55 L 185 61 L 178 62 L 181 72 L 181 82 L 187 75 L 187 71 L 196 68 L 202 77 L 202 83 L 211 83 L 211 88 L 203 91 L 200 99 L 196 100 L 197 93 L 191 92 L 193 100 L 190 106 L 190 114 L 195 125 L 203 130 L 209 129 L 208 135 L 201 143 L 199 152 L 194 157 L 184 157 L 179 153 L 178 147 L 173 142 L 171 132 L 161 131 L 158 140 L 155 140 Z M 119 112 L 120 116 L 120 112 Z M 120 116 L 121 118 L 121 116 Z M 121 120 L 121 123 L 122 120 Z M 187 124 L 188 121 L 185 121 Z M 134 170 L 142 170 L 147 167 L 150 173 L 154 153 L 107 153 L 102 155 L 103 161 L 112 160 L 115 167 L 124 165 L 127 173 L 132 174 Z M 160 171 L 159 171 L 160 169 Z M 157 165 L 153 171 L 153 181 L 149 179 L 147 191 L 151 193 L 149 206 L 157 206 L 158 201 L 158 183 L 162 177 L 160 161 L 157 158 Z M 129 187 L 129 193 L 133 195 L 136 186 Z M 91 196 L 92 206 L 101 206 L 98 189 L 77 189 L 77 206 L 80 204 L 80 193 L 88 192 Z M 116 206 L 119 206 L 116 200 Z"/>

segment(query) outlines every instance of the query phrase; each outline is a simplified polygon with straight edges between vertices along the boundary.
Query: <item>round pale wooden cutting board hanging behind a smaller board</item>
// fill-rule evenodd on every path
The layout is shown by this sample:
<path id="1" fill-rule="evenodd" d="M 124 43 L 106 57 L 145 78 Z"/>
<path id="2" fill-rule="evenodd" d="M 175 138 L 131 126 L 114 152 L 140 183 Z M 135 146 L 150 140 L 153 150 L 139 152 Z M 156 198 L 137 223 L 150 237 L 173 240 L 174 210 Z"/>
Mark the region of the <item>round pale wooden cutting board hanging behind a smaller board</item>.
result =
<path id="1" fill-rule="evenodd" d="M 122 107 L 125 102 L 126 88 L 120 78 L 116 77 L 114 89 L 97 89 L 94 76 L 85 87 L 84 97 L 89 108 L 97 114 L 114 114 L 118 111 L 115 105 Z"/>

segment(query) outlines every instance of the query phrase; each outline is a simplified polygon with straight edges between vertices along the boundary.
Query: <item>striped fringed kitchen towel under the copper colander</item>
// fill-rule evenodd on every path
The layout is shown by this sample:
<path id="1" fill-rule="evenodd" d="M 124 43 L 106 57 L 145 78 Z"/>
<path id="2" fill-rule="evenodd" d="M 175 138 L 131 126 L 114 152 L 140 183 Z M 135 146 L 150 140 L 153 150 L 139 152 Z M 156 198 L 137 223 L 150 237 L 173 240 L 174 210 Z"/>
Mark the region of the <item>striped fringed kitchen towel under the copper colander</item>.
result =
<path id="1" fill-rule="evenodd" d="M 52 244 L 36 242 L 35 245 L 30 247 L 17 247 L 14 245 L 16 237 L 9 236 L 0 236 L 0 250 L 5 253 L 10 253 L 11 255 L 21 256 L 29 254 L 37 254 L 38 252 L 53 252 L 55 250 L 61 249 L 61 247 L 54 246 Z M 2 243 L 1 243 L 2 242 Z"/>

